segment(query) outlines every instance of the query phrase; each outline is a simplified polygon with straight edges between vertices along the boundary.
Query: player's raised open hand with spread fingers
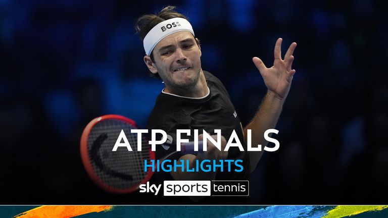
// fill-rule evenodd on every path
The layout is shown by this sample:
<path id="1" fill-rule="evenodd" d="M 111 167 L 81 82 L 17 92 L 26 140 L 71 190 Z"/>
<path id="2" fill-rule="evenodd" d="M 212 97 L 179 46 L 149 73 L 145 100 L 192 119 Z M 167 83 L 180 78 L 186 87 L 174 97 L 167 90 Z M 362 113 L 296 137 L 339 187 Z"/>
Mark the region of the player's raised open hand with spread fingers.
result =
<path id="1" fill-rule="evenodd" d="M 295 70 L 292 69 L 294 56 L 293 52 L 297 47 L 297 43 L 293 42 L 285 53 L 284 60 L 281 59 L 281 38 L 278 38 L 274 49 L 273 66 L 267 68 L 264 63 L 257 57 L 252 59 L 257 69 L 260 71 L 264 79 L 264 83 L 268 91 L 275 94 L 276 97 L 284 99 L 287 97 Z"/>

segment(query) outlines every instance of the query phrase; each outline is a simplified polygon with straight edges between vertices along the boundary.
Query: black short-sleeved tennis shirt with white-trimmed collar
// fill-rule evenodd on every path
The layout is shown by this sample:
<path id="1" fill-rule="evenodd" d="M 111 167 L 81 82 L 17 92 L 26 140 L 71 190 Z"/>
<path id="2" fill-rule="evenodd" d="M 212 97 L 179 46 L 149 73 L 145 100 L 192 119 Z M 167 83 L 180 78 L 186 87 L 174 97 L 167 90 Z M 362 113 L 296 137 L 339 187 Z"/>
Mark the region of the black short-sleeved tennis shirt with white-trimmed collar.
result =
<path id="1" fill-rule="evenodd" d="M 243 160 L 243 163 L 240 163 L 240 165 L 244 167 L 244 170 L 234 172 L 233 169 L 239 168 L 232 165 L 232 171 L 228 172 L 227 163 L 225 163 L 224 172 L 218 171 L 216 180 L 248 180 L 250 174 L 249 154 L 247 152 L 247 145 L 244 142 L 240 119 L 221 81 L 211 73 L 203 72 L 210 89 L 210 93 L 206 97 L 187 98 L 163 92 L 157 97 L 147 128 L 149 130 L 164 130 L 171 136 L 169 141 L 172 140 L 172 143 L 169 147 L 157 145 L 156 158 L 161 159 L 176 151 L 177 129 L 190 129 L 190 136 L 183 137 L 185 134 L 182 134 L 182 138 L 188 138 L 190 141 L 194 139 L 194 129 L 198 129 L 199 134 L 202 134 L 203 130 L 205 130 L 210 135 L 215 134 L 215 129 L 221 129 L 221 134 L 226 141 L 229 140 L 232 131 L 235 130 L 245 151 L 240 151 L 238 147 L 230 147 L 227 159 Z M 178 159 L 182 155 L 182 153 L 177 153 L 168 157 L 168 159 Z M 161 182 L 163 180 L 173 180 L 170 173 L 165 172 L 158 172 L 154 177 Z"/>

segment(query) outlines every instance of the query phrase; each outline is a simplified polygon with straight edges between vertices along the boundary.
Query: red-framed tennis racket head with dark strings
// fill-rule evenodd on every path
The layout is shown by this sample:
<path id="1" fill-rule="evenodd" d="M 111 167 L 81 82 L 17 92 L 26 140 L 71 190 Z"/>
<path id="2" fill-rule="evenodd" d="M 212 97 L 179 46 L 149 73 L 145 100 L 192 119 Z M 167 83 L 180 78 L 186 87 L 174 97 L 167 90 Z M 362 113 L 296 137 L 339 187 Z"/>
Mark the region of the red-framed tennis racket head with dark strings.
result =
<path id="1" fill-rule="evenodd" d="M 142 137 L 142 149 L 137 151 L 136 123 L 120 115 L 94 118 L 83 130 L 80 151 L 83 166 L 90 179 L 103 190 L 125 194 L 134 192 L 154 174 L 151 167 L 144 172 L 144 159 L 155 159 L 148 140 Z M 121 130 L 124 130 L 132 151 L 118 147 L 112 151 Z"/>

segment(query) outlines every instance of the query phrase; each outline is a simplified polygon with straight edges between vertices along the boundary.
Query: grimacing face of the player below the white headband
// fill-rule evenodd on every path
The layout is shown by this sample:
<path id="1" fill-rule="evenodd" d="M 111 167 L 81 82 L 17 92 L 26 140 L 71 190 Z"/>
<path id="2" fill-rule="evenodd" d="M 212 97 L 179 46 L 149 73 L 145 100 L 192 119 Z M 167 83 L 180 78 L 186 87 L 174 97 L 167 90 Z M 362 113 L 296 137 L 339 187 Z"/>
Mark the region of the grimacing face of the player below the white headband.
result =
<path id="1" fill-rule="evenodd" d="M 147 61 L 146 64 L 152 73 L 159 73 L 166 88 L 182 90 L 199 83 L 201 47 L 190 32 L 181 31 L 165 37 L 155 46 L 153 55 L 155 63 L 152 67 Z"/>

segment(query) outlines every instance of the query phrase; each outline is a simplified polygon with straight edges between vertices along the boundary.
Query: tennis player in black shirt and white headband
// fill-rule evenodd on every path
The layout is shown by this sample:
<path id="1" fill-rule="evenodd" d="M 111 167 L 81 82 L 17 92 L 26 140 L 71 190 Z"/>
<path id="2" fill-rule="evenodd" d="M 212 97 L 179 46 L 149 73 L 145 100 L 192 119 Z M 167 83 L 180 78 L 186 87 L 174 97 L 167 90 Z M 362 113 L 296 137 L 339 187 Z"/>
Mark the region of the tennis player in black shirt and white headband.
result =
<path id="1" fill-rule="evenodd" d="M 174 142 L 177 129 L 191 130 L 188 137 L 190 140 L 193 140 L 195 129 L 199 133 L 205 130 L 211 134 L 215 134 L 215 129 L 221 129 L 221 138 L 212 135 L 214 139 L 221 140 L 221 150 L 208 140 L 208 149 L 203 153 L 177 153 L 169 158 L 188 160 L 189 167 L 194 166 L 197 160 L 204 159 L 241 159 L 244 166 L 241 172 L 185 170 L 159 173 L 157 177 L 161 180 L 248 180 L 263 151 L 247 152 L 247 131 L 252 130 L 253 146 L 266 146 L 268 142 L 263 133 L 275 127 L 295 74 L 295 70 L 292 70 L 292 55 L 297 44 L 294 42 L 289 46 L 283 60 L 280 51 L 282 39 L 279 38 L 275 44 L 275 60 L 271 68 L 266 68 L 259 58 L 253 58 L 268 91 L 255 117 L 243 129 L 225 87 L 212 74 L 202 70 L 201 46 L 186 17 L 169 6 L 158 15 L 139 17 L 136 30 L 146 51 L 144 63 L 152 76 L 161 78 L 165 85 L 149 117 L 148 128 L 166 131 L 172 145 L 157 148 L 157 158 L 163 158 L 176 150 Z M 224 151 L 233 131 L 241 139 L 245 151 L 240 151 L 237 147 Z M 200 139 L 202 137 L 201 135 Z"/>

